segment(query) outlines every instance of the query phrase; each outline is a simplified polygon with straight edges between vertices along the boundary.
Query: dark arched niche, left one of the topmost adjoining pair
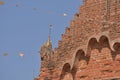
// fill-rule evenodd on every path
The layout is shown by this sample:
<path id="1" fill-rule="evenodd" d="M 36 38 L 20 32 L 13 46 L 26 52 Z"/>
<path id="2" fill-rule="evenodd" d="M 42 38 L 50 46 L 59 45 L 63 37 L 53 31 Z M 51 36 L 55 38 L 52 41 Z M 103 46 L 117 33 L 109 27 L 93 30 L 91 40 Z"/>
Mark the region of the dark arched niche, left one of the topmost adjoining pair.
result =
<path id="1" fill-rule="evenodd" d="M 90 56 L 91 54 L 91 51 L 93 49 L 98 49 L 99 48 L 99 45 L 98 45 L 98 42 L 97 42 L 97 39 L 96 38 L 91 38 L 88 42 L 88 46 L 87 46 L 87 55 Z"/>

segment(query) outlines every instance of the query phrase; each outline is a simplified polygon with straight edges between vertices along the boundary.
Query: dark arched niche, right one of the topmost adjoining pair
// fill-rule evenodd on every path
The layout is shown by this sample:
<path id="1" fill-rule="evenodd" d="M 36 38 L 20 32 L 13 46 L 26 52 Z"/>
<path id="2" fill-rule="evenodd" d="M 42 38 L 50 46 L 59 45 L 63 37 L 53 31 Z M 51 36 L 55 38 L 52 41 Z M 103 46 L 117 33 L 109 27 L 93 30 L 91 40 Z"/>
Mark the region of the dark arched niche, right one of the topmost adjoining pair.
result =
<path id="1" fill-rule="evenodd" d="M 110 49 L 110 44 L 109 44 L 109 39 L 103 35 L 99 39 L 99 49 L 101 50 L 102 48 L 105 47 Z"/>

